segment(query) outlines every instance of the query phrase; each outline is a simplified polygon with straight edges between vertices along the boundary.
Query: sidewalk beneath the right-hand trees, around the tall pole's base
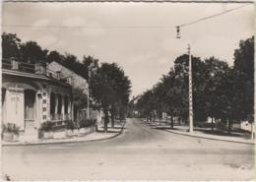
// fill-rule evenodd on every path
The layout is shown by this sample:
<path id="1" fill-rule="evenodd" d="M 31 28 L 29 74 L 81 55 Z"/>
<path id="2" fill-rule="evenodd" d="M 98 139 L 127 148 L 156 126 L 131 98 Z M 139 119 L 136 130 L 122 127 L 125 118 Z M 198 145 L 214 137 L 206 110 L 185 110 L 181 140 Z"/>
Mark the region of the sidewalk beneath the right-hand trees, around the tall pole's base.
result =
<path id="1" fill-rule="evenodd" d="M 249 137 L 245 137 L 244 134 L 239 132 L 231 132 L 231 134 L 227 134 L 227 132 L 222 131 L 214 131 L 208 128 L 199 128 L 194 127 L 193 134 L 188 132 L 188 126 L 174 126 L 173 129 L 170 129 L 169 125 L 159 125 L 158 123 L 147 122 L 154 129 L 164 130 L 170 133 L 185 135 L 190 137 L 197 137 L 209 140 L 218 140 L 224 142 L 233 142 L 233 143 L 241 143 L 241 144 L 250 144 L 254 145 L 255 141 L 252 141 Z"/>

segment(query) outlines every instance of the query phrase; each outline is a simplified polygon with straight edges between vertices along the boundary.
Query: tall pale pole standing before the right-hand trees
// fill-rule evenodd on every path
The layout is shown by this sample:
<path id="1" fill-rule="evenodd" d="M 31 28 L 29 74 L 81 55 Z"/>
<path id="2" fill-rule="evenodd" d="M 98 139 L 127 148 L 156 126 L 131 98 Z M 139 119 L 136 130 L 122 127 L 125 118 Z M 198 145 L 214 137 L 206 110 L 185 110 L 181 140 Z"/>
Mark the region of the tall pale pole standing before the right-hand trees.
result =
<path id="1" fill-rule="evenodd" d="M 188 44 L 189 70 L 188 70 L 188 84 L 189 84 L 189 133 L 193 133 L 193 90 L 192 90 L 192 58 L 191 47 Z"/>

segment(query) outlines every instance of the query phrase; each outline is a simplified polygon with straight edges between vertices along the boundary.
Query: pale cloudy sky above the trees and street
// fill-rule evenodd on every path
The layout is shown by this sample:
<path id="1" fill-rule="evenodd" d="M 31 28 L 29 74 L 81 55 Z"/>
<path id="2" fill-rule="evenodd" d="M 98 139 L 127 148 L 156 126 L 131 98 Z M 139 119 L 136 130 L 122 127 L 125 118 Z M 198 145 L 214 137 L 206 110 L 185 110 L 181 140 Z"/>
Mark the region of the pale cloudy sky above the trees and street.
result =
<path id="1" fill-rule="evenodd" d="M 253 35 L 253 5 L 182 27 L 179 39 L 176 26 L 244 5 L 66 2 L 2 6 L 2 31 L 80 59 L 92 55 L 100 62 L 116 62 L 132 82 L 132 95 L 157 84 L 175 58 L 187 52 L 188 44 L 192 55 L 215 56 L 231 66 L 239 40 Z"/>

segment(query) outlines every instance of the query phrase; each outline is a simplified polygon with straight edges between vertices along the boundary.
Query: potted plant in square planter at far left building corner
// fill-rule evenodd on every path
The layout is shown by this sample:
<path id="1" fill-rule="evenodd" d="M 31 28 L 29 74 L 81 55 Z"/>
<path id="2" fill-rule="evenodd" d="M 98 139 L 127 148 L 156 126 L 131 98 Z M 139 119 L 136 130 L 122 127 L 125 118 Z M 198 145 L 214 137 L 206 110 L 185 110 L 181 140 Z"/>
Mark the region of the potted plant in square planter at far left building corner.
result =
<path id="1" fill-rule="evenodd" d="M 19 141 L 20 127 L 14 123 L 6 123 L 2 126 L 2 139 L 7 142 Z"/>

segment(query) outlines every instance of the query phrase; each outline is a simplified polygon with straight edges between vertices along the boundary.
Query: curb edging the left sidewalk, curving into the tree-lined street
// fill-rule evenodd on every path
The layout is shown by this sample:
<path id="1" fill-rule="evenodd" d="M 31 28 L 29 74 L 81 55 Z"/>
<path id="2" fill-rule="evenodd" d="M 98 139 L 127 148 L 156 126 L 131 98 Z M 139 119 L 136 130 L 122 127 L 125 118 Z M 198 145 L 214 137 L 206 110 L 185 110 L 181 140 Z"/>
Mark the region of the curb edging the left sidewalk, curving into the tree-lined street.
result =
<path id="1" fill-rule="evenodd" d="M 56 144 L 72 144 L 72 143 L 87 143 L 87 142 L 97 142 L 97 141 L 105 141 L 105 140 L 109 140 L 109 139 L 113 139 L 118 137 L 119 135 L 121 135 L 123 133 L 123 129 L 125 126 L 126 122 L 123 123 L 121 130 L 110 137 L 107 138 L 102 138 L 102 139 L 92 139 L 92 140 L 88 140 L 88 141 L 56 141 L 56 142 L 50 142 L 50 143 L 22 143 L 22 144 L 1 144 L 2 147 L 18 147 L 18 146 L 42 146 L 42 145 L 56 145 Z"/>

